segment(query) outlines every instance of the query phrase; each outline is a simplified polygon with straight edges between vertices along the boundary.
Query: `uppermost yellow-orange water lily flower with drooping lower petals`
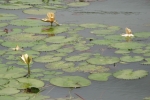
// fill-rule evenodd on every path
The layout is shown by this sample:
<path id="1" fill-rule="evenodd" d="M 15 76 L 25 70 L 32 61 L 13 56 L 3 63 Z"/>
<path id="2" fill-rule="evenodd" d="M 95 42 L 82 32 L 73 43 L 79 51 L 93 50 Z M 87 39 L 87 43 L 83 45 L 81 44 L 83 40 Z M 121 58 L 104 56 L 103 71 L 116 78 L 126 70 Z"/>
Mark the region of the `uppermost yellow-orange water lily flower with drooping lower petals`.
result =
<path id="1" fill-rule="evenodd" d="M 43 18 L 41 20 L 44 21 L 44 22 L 50 22 L 51 26 L 52 26 L 53 23 L 55 23 L 56 25 L 59 25 L 57 23 L 57 21 L 55 20 L 55 14 L 53 12 L 47 13 L 47 18 Z"/>

